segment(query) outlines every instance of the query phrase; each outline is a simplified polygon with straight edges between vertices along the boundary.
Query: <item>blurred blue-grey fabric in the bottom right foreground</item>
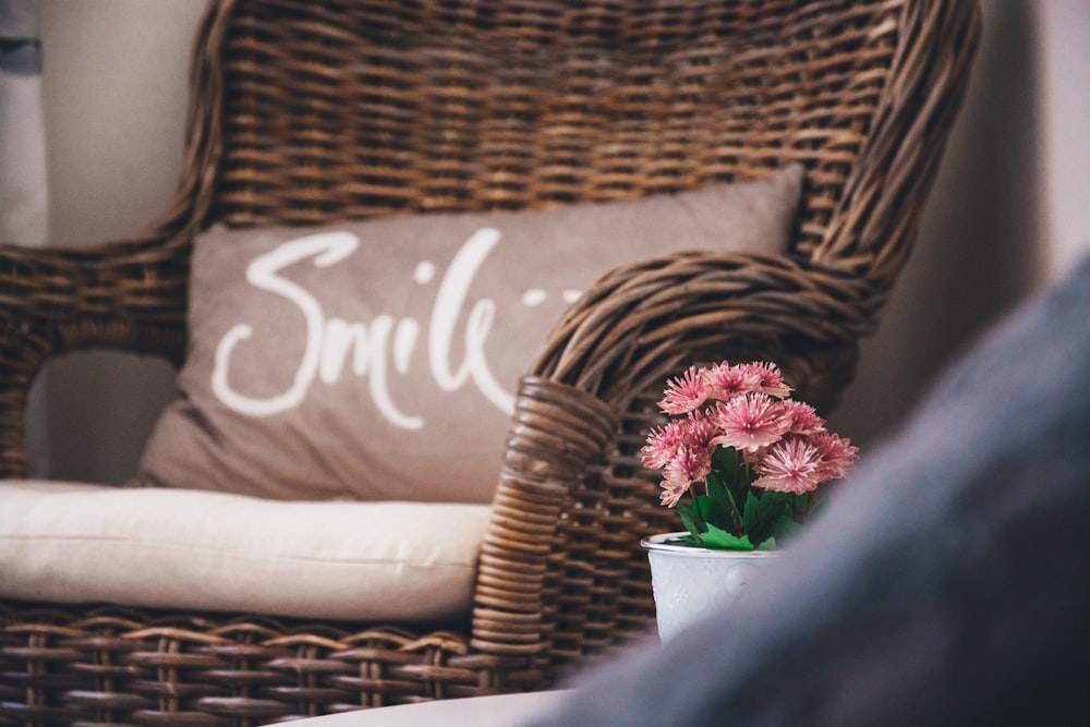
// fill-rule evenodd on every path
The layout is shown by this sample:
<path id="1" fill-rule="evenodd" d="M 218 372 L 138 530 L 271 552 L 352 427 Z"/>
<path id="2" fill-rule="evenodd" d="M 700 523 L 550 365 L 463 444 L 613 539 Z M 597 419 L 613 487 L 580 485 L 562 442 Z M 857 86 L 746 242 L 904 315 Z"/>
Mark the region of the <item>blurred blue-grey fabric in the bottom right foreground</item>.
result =
<path id="1" fill-rule="evenodd" d="M 729 609 L 537 725 L 1090 724 L 1090 259 L 978 341 Z"/>

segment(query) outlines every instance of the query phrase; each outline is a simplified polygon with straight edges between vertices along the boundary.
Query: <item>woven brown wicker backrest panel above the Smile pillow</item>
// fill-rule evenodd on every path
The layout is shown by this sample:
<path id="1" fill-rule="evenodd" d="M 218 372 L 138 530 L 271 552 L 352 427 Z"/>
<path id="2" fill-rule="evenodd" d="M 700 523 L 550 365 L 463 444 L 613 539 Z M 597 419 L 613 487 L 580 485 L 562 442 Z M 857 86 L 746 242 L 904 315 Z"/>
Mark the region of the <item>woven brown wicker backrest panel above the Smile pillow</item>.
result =
<path id="1" fill-rule="evenodd" d="M 900 3 L 334 2 L 279 22 L 299 4 L 240 8 L 209 69 L 227 92 L 217 219 L 625 198 L 796 159 L 810 170 L 799 251 L 859 242 L 827 228 Z"/>

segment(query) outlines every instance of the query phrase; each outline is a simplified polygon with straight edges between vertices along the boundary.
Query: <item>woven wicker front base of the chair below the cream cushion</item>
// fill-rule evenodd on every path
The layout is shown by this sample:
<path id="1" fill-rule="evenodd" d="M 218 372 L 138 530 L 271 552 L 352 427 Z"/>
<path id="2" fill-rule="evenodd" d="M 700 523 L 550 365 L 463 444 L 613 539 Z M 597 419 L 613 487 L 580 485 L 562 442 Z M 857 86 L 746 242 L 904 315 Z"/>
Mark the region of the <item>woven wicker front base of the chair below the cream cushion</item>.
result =
<path id="1" fill-rule="evenodd" d="M 29 608 L 20 618 L 0 640 L 4 724 L 266 724 L 541 678 L 525 659 L 471 653 L 456 631 L 112 607 Z M 36 668 L 23 671 L 25 663 Z"/>

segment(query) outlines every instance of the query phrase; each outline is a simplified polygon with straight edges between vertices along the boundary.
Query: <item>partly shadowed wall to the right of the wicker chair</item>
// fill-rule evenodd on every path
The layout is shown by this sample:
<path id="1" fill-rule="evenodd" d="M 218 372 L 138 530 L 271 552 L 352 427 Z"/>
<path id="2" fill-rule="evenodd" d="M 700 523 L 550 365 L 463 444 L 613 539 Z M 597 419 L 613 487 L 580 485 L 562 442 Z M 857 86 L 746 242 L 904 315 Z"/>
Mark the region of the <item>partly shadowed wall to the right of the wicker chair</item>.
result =
<path id="1" fill-rule="evenodd" d="M 1090 252 L 1090 3 L 982 0 L 969 92 L 912 258 L 833 417 L 880 439 L 950 358 Z"/>

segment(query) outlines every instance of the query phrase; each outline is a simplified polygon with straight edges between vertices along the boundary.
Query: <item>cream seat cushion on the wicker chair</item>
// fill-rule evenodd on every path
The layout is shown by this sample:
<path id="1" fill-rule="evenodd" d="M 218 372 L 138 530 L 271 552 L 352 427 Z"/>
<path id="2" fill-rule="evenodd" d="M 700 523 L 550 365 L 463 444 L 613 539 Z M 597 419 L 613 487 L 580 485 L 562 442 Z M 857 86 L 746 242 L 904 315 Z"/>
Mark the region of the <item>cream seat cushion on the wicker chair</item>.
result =
<path id="1" fill-rule="evenodd" d="M 489 507 L 0 481 L 0 595 L 282 617 L 469 614 Z"/>

